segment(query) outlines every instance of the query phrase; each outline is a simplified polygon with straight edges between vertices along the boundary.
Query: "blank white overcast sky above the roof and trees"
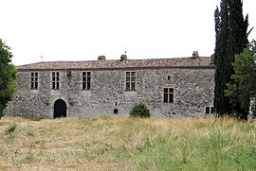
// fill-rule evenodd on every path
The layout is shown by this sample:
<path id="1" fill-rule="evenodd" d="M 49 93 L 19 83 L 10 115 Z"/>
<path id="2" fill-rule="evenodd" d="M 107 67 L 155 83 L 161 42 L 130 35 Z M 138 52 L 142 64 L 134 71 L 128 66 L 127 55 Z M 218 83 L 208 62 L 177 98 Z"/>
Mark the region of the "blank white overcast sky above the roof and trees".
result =
<path id="1" fill-rule="evenodd" d="M 13 63 L 163 59 L 214 52 L 220 0 L 0 0 L 0 39 Z M 244 0 L 256 27 L 255 0 Z M 249 41 L 256 39 L 256 28 Z M 43 57 L 43 59 L 41 58 Z"/>

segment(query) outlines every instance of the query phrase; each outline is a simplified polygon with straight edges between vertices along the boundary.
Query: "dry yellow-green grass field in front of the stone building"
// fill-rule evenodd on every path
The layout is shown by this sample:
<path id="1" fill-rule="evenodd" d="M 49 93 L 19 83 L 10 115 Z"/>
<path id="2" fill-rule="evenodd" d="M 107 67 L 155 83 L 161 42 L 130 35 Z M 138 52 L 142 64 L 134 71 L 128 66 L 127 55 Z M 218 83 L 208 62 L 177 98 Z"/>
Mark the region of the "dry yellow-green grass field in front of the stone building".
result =
<path id="1" fill-rule="evenodd" d="M 0 170 L 15 169 L 256 170 L 256 122 L 4 117 Z"/>

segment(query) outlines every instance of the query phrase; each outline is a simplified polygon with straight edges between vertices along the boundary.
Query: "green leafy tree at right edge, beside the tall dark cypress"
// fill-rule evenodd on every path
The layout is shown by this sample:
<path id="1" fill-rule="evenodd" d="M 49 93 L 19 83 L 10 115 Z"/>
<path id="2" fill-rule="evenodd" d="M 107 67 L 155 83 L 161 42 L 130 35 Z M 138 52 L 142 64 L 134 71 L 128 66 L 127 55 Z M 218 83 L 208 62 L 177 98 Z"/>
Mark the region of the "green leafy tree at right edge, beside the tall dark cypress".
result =
<path id="1" fill-rule="evenodd" d="M 225 91 L 232 106 L 240 104 L 241 108 L 247 112 L 250 99 L 255 99 L 256 97 L 255 54 L 256 41 L 252 41 L 247 45 L 243 53 L 235 56 L 235 61 L 233 62 L 235 74 L 232 75 L 231 82 L 227 84 L 228 89 Z M 255 106 L 256 104 L 252 104 L 252 111 L 254 111 Z"/>

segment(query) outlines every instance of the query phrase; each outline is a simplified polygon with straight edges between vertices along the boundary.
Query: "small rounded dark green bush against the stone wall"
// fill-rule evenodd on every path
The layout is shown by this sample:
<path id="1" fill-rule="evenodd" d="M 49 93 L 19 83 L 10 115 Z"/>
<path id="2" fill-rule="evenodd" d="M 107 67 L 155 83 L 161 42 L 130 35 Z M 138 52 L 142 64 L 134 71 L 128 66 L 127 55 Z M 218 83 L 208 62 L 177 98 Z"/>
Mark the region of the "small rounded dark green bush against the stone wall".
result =
<path id="1" fill-rule="evenodd" d="M 144 103 L 136 104 L 129 113 L 130 117 L 150 117 L 150 111 Z"/>

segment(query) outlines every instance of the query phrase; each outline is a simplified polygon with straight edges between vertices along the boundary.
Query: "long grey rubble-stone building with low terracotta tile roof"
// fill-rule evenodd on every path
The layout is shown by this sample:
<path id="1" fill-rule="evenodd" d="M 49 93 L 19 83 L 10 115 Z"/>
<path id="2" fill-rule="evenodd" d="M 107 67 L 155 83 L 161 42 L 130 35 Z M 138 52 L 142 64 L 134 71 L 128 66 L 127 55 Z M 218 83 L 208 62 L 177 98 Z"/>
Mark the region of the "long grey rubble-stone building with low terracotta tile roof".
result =
<path id="1" fill-rule="evenodd" d="M 68 117 L 102 114 L 128 116 L 132 107 L 139 102 L 145 103 L 155 117 L 212 117 L 209 112 L 213 106 L 214 66 L 210 63 L 210 58 L 184 60 L 191 61 L 192 65 L 182 66 L 180 62 L 184 62 L 183 60 L 170 59 L 175 64 L 166 66 L 166 62 L 162 60 L 136 60 L 141 65 L 133 67 L 129 62 L 137 63 L 136 61 L 110 60 L 112 64 L 109 62 L 100 65 L 98 62 L 108 60 L 95 60 L 88 62 L 100 67 L 88 67 L 86 62 L 82 67 L 79 61 L 19 66 L 18 90 L 5 113 L 27 118 L 53 118 L 56 112 L 55 102 L 62 99 Z M 199 63 L 200 60 L 205 61 L 195 66 L 193 63 L 198 63 L 195 60 Z M 126 65 L 120 65 L 119 62 L 126 62 Z M 145 66 L 147 62 L 151 64 Z M 51 66 L 47 67 L 48 65 Z M 106 67 L 107 65 L 115 67 Z M 60 74 L 57 90 L 52 89 L 52 72 Z M 83 72 L 90 72 L 89 90 L 82 90 Z M 127 91 L 127 72 L 135 72 L 135 91 Z M 31 73 L 38 73 L 36 89 L 31 89 Z M 164 91 L 167 88 L 174 91 L 172 102 L 165 100 Z"/>

